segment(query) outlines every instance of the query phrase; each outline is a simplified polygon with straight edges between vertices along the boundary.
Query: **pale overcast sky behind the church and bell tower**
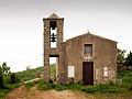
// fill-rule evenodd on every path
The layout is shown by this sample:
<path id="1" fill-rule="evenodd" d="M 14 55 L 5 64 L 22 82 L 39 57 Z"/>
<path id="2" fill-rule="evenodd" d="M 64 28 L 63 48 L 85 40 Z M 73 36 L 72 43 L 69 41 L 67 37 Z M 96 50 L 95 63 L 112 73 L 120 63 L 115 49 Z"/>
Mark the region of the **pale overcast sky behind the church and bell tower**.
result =
<path id="1" fill-rule="evenodd" d="M 65 19 L 64 41 L 89 31 L 132 51 L 132 0 L 0 0 L 0 64 L 43 66 L 43 18 L 53 12 Z"/>

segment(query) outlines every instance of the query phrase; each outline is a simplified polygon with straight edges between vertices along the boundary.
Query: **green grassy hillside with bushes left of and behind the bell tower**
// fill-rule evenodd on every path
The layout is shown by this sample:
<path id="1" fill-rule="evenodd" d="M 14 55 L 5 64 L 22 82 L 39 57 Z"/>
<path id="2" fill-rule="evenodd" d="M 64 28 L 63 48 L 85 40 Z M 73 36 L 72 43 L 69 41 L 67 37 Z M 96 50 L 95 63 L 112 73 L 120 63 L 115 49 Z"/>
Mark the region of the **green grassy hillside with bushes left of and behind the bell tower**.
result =
<path id="1" fill-rule="evenodd" d="M 44 67 L 42 66 L 24 72 L 11 73 L 10 67 L 7 66 L 7 63 L 3 63 L 2 66 L 0 66 L 0 97 L 6 97 L 7 92 L 21 86 L 22 84 L 20 82 L 36 78 L 36 70 L 40 70 L 41 75 L 43 75 Z M 54 79 L 55 79 L 55 65 L 52 65 L 51 80 L 53 81 Z M 33 82 L 28 82 L 25 87 L 26 89 L 30 89 L 31 87 L 41 82 L 43 82 L 43 79 Z"/>

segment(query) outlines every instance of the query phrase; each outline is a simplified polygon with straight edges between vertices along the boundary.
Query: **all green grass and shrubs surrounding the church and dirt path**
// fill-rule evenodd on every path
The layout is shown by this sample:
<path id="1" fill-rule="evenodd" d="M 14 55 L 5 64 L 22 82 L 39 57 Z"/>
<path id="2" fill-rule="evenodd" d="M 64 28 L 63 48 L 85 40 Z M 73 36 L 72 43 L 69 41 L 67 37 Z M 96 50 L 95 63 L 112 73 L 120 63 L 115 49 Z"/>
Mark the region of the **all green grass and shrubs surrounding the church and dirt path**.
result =
<path id="1" fill-rule="evenodd" d="M 7 64 L 4 64 L 4 69 Z M 38 67 L 35 69 L 29 69 L 24 72 L 19 72 L 15 74 L 11 74 L 10 69 L 3 73 L 2 66 L 0 66 L 0 97 L 4 97 L 7 92 L 11 91 L 13 88 L 21 86 L 19 84 L 21 81 L 34 79 L 36 77 L 36 70 L 41 72 L 43 75 L 43 67 Z M 95 97 L 107 97 L 111 96 L 112 98 L 119 97 L 132 97 L 132 70 L 118 70 L 118 79 L 122 79 L 121 84 L 114 84 L 110 81 L 109 84 L 100 84 L 98 86 L 84 86 L 82 84 L 53 84 L 55 79 L 55 65 L 51 66 L 51 84 L 44 84 L 43 79 L 28 82 L 25 88 L 29 90 L 31 87 L 38 84 L 37 88 L 40 90 L 78 90 L 84 91 L 86 94 L 92 94 Z"/>

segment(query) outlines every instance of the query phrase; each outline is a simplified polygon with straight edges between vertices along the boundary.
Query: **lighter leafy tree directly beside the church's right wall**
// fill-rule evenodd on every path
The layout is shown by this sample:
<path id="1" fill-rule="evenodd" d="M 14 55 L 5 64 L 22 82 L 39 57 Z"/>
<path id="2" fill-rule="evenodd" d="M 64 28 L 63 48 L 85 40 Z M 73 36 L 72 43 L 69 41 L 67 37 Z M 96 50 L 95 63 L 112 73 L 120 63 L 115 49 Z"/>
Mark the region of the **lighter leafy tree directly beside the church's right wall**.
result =
<path id="1" fill-rule="evenodd" d="M 124 63 L 125 63 L 125 57 L 124 57 L 124 54 L 125 54 L 125 50 L 120 50 L 120 48 L 118 48 L 118 51 L 117 51 L 117 58 L 118 58 L 118 65 L 120 66 L 120 65 L 124 65 Z"/>

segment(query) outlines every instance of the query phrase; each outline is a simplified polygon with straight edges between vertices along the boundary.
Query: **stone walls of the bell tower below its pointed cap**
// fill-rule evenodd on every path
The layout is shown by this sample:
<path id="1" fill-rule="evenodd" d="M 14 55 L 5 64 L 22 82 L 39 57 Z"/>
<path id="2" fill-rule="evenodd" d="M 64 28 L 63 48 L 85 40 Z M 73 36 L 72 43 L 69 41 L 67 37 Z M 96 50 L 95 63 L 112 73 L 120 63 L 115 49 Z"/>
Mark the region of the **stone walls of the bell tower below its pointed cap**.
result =
<path id="1" fill-rule="evenodd" d="M 63 61 L 62 61 L 62 43 L 63 43 L 63 26 L 64 26 L 64 19 L 43 19 L 44 21 L 44 82 L 50 82 L 50 57 L 56 57 L 58 58 L 58 64 L 56 67 L 58 78 L 62 79 L 62 73 L 59 70 L 62 69 L 63 66 Z M 50 22 L 51 21 L 56 21 L 57 23 L 57 41 L 56 41 L 56 48 L 51 48 L 51 28 L 50 28 Z"/>

